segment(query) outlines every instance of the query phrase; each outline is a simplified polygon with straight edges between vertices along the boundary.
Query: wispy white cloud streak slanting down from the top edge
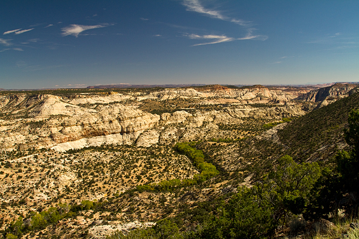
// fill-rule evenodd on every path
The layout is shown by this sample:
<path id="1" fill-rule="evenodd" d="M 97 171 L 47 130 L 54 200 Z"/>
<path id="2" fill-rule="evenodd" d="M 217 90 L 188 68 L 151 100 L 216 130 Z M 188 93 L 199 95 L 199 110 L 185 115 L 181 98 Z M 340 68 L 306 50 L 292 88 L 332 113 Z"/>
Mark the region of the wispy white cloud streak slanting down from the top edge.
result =
<path id="1" fill-rule="evenodd" d="M 187 7 L 187 9 L 186 9 L 187 11 L 203 13 L 203 14 L 209 15 L 210 17 L 230 21 L 232 23 L 235 23 L 235 24 L 238 24 L 238 25 L 241 25 L 244 27 L 248 27 L 251 25 L 251 21 L 230 18 L 230 17 L 223 15 L 220 11 L 206 9 L 198 0 L 184 0 L 183 5 Z"/>

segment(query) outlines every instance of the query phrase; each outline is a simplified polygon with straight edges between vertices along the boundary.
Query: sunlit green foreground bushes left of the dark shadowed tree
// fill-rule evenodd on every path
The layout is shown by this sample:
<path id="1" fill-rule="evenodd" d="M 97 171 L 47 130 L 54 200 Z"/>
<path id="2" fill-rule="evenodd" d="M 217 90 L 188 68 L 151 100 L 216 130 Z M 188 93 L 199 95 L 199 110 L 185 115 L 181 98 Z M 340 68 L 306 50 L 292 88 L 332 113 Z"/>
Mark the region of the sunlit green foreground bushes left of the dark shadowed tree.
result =
<path id="1" fill-rule="evenodd" d="M 265 176 L 262 182 L 258 182 L 252 188 L 238 187 L 237 193 L 228 200 L 203 202 L 202 204 L 211 208 L 211 211 L 198 206 L 187 210 L 186 213 L 179 213 L 171 226 L 177 227 L 177 222 L 181 225 L 181 220 L 178 219 L 186 218 L 186 215 L 190 214 L 198 215 L 197 222 L 201 223 L 192 225 L 194 228 L 190 230 L 185 229 L 190 228 L 189 225 L 182 224 L 179 233 L 175 234 L 176 237 L 171 238 L 268 238 L 277 230 L 283 229 L 288 214 L 304 210 L 308 202 L 308 193 L 318 177 L 320 168 L 316 163 L 300 165 L 291 157 L 285 156 L 271 175 Z M 143 235 L 148 235 L 153 229 L 137 229 L 136 233 L 139 233 L 139 230 Z M 154 235 L 152 238 L 169 237 Z"/>

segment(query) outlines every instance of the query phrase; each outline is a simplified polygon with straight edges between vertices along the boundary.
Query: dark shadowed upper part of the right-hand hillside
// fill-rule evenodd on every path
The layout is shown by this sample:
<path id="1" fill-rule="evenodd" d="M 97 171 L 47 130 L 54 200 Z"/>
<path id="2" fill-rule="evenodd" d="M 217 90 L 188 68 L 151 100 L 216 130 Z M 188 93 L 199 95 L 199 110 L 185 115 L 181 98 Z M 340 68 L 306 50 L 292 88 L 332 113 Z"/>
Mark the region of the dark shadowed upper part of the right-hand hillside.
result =
<path id="1" fill-rule="evenodd" d="M 356 93 L 290 122 L 277 135 L 294 158 L 328 159 L 338 149 L 348 147 L 343 129 L 349 112 L 357 108 L 359 94 Z"/>

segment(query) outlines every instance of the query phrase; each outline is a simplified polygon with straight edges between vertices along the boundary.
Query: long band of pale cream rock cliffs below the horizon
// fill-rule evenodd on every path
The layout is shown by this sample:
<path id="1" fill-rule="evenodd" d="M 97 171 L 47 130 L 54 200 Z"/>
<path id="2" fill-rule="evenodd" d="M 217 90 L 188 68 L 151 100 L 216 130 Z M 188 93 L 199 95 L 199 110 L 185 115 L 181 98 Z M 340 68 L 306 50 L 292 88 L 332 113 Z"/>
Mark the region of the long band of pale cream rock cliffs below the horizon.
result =
<path id="1" fill-rule="evenodd" d="M 104 143 L 171 144 L 216 138 L 220 124 L 239 125 L 250 118 L 268 121 L 305 114 L 301 104 L 288 103 L 294 95 L 263 86 L 202 90 L 3 94 L 2 150 L 52 147 L 64 151 Z M 282 104 L 268 107 L 243 105 L 243 101 Z"/>

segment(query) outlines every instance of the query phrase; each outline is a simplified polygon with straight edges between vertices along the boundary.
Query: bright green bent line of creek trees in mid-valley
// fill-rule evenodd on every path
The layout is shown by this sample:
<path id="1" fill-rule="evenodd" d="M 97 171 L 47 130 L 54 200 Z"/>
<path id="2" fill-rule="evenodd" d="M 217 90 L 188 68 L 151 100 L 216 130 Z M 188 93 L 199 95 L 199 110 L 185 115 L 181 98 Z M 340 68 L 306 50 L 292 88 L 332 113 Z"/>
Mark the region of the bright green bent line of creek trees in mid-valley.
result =
<path id="1" fill-rule="evenodd" d="M 190 158 L 193 164 L 196 166 L 201 173 L 198 173 L 193 176 L 193 179 L 172 179 L 172 180 L 163 180 L 159 183 L 152 184 L 144 184 L 137 185 L 136 190 L 138 192 L 143 191 L 173 191 L 178 187 L 186 187 L 198 183 L 202 183 L 207 179 L 210 179 L 220 173 L 216 167 L 211 164 L 205 162 L 205 156 L 203 155 L 203 151 L 195 148 L 196 142 L 184 142 L 184 143 L 176 143 L 175 149 Z"/>

